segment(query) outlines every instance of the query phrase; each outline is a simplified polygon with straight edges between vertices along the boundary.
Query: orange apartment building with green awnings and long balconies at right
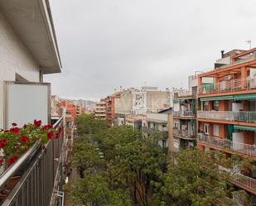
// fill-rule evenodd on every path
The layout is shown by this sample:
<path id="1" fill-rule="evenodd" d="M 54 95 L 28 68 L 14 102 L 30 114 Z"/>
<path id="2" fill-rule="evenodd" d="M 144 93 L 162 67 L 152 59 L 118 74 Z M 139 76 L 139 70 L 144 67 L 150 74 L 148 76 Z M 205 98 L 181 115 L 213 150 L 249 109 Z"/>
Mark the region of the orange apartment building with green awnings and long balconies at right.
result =
<path id="1" fill-rule="evenodd" d="M 198 75 L 197 146 L 255 160 L 256 48 L 223 53 L 217 63 L 221 65 Z M 255 199 L 254 170 L 241 170 L 233 183 Z"/>

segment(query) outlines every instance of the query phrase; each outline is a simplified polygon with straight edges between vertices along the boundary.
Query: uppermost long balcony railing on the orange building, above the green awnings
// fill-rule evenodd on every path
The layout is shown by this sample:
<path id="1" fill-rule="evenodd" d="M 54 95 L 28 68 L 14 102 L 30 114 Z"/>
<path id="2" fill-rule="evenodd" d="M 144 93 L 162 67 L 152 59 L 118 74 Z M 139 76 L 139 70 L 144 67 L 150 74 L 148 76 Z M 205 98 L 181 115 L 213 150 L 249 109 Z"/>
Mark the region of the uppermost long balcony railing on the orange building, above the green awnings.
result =
<path id="1" fill-rule="evenodd" d="M 231 79 L 219 83 L 199 87 L 199 94 L 228 93 L 241 90 L 256 89 L 256 79 Z"/>

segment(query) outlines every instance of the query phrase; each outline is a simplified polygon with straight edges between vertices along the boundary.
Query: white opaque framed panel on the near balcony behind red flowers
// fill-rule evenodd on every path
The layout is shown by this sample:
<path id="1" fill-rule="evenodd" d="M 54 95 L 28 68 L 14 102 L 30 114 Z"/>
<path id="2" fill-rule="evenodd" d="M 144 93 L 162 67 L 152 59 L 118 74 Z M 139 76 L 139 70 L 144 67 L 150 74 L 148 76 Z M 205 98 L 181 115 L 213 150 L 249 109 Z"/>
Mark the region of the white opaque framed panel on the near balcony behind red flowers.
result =
<path id="1" fill-rule="evenodd" d="M 51 84 L 4 82 L 4 127 L 22 127 L 34 119 L 51 121 Z"/>

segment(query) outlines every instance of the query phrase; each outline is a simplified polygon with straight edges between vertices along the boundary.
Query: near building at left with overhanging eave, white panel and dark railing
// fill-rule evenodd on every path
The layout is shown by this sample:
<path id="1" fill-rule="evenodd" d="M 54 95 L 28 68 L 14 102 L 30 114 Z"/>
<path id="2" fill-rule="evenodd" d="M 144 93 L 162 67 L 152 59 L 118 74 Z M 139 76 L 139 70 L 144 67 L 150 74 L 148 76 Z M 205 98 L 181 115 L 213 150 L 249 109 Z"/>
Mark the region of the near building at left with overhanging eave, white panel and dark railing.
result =
<path id="1" fill-rule="evenodd" d="M 9 129 L 12 122 L 23 127 L 34 119 L 51 124 L 51 84 L 43 76 L 60 73 L 61 63 L 48 0 L 0 1 L 0 65 L 0 128 Z M 35 144 L 2 172 L 1 205 L 64 202 L 58 185 L 65 117 L 53 127 L 61 128 L 60 138 L 49 141 L 46 151 Z"/>

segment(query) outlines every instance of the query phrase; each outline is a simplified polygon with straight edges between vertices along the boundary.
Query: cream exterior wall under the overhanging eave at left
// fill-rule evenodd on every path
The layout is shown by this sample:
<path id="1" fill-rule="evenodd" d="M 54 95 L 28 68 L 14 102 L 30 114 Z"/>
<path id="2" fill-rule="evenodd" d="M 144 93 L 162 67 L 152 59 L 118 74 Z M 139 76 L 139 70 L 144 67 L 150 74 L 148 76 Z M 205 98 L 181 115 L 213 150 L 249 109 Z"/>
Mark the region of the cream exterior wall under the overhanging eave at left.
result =
<path id="1" fill-rule="evenodd" d="M 14 81 L 19 74 L 24 79 L 39 82 L 39 65 L 19 40 L 12 26 L 0 11 L 0 127 L 3 127 L 3 81 Z"/>

